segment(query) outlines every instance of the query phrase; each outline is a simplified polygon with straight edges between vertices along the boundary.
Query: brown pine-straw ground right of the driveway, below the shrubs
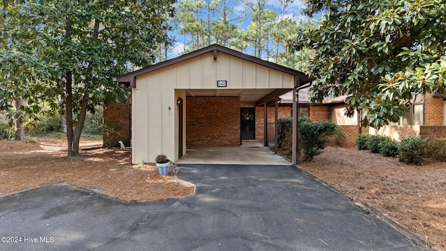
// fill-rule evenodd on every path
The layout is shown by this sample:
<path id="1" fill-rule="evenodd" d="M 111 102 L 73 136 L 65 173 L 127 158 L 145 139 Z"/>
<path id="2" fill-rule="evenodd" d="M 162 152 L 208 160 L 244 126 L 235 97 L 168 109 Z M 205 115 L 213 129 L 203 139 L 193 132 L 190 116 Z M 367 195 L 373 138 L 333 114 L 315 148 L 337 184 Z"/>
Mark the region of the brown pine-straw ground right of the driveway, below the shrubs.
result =
<path id="1" fill-rule="evenodd" d="M 446 162 L 405 165 L 370 151 L 328 147 L 300 166 L 446 250 Z"/>

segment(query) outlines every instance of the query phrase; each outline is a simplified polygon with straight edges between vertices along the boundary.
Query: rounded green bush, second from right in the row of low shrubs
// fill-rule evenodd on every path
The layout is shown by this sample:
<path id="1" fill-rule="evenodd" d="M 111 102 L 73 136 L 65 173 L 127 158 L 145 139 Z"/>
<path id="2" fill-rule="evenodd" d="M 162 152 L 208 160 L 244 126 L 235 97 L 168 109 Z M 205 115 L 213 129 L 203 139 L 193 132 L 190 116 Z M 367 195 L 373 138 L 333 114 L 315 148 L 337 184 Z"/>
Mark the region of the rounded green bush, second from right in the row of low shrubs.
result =
<path id="1" fill-rule="evenodd" d="M 407 164 L 422 165 L 426 155 L 427 140 L 420 137 L 407 137 L 401 139 L 399 145 L 399 161 Z"/>

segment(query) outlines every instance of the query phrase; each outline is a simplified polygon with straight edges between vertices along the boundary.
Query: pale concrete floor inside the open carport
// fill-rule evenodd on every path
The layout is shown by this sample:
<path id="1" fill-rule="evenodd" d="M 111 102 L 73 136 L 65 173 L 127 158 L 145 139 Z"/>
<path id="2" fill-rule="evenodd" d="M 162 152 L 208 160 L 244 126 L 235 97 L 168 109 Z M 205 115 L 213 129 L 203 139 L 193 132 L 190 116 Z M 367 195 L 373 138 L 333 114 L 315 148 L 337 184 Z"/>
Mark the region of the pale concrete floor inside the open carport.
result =
<path id="1" fill-rule="evenodd" d="M 259 142 L 243 141 L 241 146 L 192 147 L 176 164 L 291 165 L 291 162 Z"/>

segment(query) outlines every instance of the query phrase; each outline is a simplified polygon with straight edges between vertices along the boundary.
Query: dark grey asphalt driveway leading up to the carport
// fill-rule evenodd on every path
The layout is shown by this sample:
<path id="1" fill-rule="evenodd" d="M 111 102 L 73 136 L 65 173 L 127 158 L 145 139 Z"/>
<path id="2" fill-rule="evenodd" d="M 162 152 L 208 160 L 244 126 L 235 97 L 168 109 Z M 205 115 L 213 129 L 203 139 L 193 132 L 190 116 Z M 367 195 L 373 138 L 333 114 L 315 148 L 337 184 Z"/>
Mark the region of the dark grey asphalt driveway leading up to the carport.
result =
<path id="1" fill-rule="evenodd" d="M 2 197 L 0 250 L 425 250 L 293 166 L 178 171 L 196 195 L 127 204 L 56 184 Z"/>

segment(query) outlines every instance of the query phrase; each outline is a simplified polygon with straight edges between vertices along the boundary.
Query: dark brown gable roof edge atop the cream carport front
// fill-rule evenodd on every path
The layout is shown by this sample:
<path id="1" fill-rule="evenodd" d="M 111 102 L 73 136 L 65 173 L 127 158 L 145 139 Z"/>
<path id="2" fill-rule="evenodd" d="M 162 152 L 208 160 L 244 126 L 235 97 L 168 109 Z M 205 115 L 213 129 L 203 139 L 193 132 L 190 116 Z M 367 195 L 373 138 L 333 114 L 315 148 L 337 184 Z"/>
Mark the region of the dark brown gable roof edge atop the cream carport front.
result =
<path id="1" fill-rule="evenodd" d="M 303 84 L 307 84 L 308 82 L 311 81 L 311 79 L 309 79 L 309 77 L 307 77 L 307 75 L 305 75 L 305 73 L 302 73 L 298 70 L 293 70 L 291 68 L 285 67 L 285 66 L 280 66 L 277 63 L 272 63 L 270 61 L 265 61 L 263 59 L 259 59 L 255 56 L 250 56 L 248 54 L 244 54 L 242 52 L 238 52 L 236 50 L 232 50 L 229 49 L 228 47 L 223 47 L 221 45 L 209 45 L 208 47 L 204 47 L 202 49 L 196 50 L 194 52 L 190 52 L 187 54 L 184 54 L 182 56 L 178 56 L 174 59 L 169 59 L 166 61 L 162 61 L 160 63 L 156 63 L 153 66 L 148 66 L 146 68 L 142 68 L 140 70 L 135 70 L 131 73 L 127 73 L 125 75 L 116 77 L 116 81 L 122 84 L 128 84 L 131 87 L 135 87 L 136 86 L 136 77 L 138 77 L 139 75 L 144 75 L 146 73 L 150 73 L 153 70 L 158 70 L 160 68 L 164 68 L 167 66 L 171 66 L 175 63 L 180 63 L 182 61 L 185 61 L 187 59 L 192 59 L 195 56 L 200 56 L 202 54 L 206 54 L 208 52 L 213 52 L 214 53 L 214 59 L 217 59 L 217 52 L 222 52 L 225 54 L 229 54 L 231 56 L 236 56 L 239 59 L 244 59 L 246 61 L 250 61 L 252 63 L 256 63 L 259 64 L 261 66 L 265 66 L 267 68 L 272 68 L 274 70 L 279 70 L 282 73 L 288 73 L 290 75 L 299 77 L 300 79 L 300 86 L 302 86 Z"/>

